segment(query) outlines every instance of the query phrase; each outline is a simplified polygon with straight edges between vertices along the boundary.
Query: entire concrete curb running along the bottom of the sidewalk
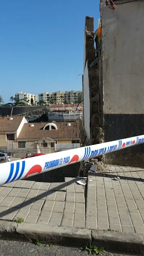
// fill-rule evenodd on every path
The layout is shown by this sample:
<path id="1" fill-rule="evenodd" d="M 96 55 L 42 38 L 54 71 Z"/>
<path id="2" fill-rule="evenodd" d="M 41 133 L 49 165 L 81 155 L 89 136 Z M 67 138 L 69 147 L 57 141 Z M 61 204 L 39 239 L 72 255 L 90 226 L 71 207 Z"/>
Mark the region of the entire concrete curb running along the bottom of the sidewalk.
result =
<path id="1" fill-rule="evenodd" d="M 68 228 L 23 222 L 0 221 L 0 239 L 32 242 L 39 239 L 44 244 L 84 247 L 94 244 L 111 252 L 144 252 L 142 234 L 115 231 L 98 231 L 87 228 Z"/>

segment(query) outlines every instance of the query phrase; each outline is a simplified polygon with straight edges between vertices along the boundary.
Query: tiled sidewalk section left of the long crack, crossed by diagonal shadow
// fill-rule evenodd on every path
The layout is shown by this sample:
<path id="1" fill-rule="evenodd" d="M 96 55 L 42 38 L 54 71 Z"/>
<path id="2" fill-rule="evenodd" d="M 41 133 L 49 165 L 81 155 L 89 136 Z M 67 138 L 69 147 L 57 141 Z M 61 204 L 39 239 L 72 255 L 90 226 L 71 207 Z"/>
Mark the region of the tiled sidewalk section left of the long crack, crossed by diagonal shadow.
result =
<path id="1" fill-rule="evenodd" d="M 0 219 L 85 227 L 84 189 L 78 178 L 46 183 L 19 180 L 0 186 Z"/>

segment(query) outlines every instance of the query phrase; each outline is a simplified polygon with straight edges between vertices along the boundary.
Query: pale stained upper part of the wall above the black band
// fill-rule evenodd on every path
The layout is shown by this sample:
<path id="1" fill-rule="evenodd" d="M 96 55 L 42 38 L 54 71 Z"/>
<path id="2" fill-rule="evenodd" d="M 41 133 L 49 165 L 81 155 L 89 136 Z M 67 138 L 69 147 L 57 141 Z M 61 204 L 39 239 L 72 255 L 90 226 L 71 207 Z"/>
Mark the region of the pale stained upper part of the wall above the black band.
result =
<path id="1" fill-rule="evenodd" d="M 104 113 L 143 114 L 144 1 L 101 11 Z"/>

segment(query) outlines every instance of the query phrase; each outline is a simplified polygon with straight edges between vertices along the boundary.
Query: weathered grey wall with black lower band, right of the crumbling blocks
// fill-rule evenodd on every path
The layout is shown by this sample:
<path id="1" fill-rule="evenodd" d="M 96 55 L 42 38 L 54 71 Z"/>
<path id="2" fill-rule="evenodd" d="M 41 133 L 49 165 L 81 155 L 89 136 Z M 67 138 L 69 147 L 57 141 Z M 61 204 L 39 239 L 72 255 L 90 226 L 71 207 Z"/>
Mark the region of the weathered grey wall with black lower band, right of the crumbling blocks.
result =
<path id="1" fill-rule="evenodd" d="M 124 1 L 123 1 L 124 2 Z M 144 1 L 101 0 L 104 141 L 144 134 Z M 144 144 L 105 155 L 107 163 L 144 165 Z"/>

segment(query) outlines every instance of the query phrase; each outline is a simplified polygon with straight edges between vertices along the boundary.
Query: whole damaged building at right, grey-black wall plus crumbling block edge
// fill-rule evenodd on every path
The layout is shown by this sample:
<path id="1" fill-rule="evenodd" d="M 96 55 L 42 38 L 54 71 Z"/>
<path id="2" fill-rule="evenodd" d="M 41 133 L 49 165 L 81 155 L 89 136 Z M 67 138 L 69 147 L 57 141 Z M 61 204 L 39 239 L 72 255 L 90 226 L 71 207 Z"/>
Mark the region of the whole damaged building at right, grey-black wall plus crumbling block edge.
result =
<path id="1" fill-rule="evenodd" d="M 105 0 L 100 1 L 101 20 L 95 35 L 94 18 L 86 17 L 83 125 L 90 144 L 144 131 L 144 1 L 120 2 L 115 1 L 112 10 Z M 103 157 L 108 164 L 142 167 L 144 144 Z"/>

